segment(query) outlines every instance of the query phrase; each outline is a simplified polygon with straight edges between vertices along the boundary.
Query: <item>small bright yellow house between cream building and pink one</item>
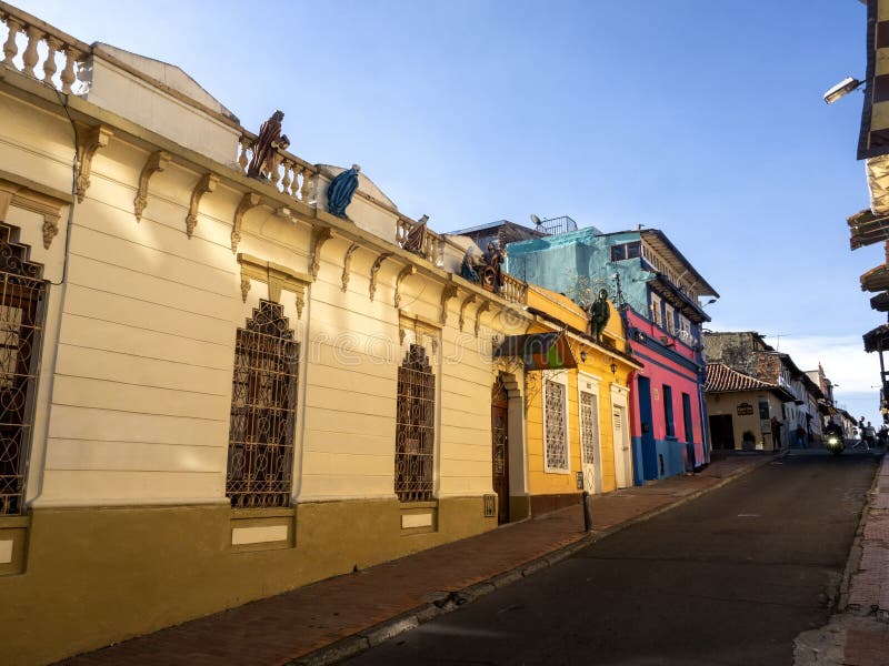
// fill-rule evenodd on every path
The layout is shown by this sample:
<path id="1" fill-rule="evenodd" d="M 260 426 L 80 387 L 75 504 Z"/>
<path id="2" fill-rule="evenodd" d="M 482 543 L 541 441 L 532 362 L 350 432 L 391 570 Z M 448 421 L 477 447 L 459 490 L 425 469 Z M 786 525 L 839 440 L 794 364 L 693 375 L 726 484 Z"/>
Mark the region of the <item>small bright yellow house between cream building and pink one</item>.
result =
<path id="1" fill-rule="evenodd" d="M 629 377 L 642 367 L 627 353 L 618 311 L 599 341 L 587 312 L 570 299 L 528 286 L 533 317 L 526 349 L 548 353 L 538 370 L 526 361 L 530 511 L 540 514 L 579 502 L 579 495 L 632 485 Z M 543 341 L 542 346 L 529 345 Z M 553 370 L 543 369 L 548 362 Z"/>

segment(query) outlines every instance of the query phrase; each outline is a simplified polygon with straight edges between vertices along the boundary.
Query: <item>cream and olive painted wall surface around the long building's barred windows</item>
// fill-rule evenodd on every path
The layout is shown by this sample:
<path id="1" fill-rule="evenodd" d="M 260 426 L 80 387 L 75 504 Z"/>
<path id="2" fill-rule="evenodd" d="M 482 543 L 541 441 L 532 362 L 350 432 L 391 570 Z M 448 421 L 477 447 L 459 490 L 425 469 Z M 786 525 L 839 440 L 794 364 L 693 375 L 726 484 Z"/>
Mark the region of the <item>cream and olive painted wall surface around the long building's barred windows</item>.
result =
<path id="1" fill-rule="evenodd" d="M 70 124 L 52 91 L 28 79 L 32 93 L 17 94 L 9 84 L 16 77 L 0 81 L 0 182 L 4 170 L 16 169 L 17 176 L 69 196 Z M 39 94 L 47 99 L 38 103 Z M 283 218 L 269 185 L 238 176 L 228 164 L 196 164 L 196 155 L 164 144 L 173 160 L 151 176 L 137 221 L 133 198 L 157 138 L 94 111 L 102 118 L 92 123 L 107 123 L 113 135 L 96 152 L 90 186 L 74 208 L 64 284 L 67 204 L 48 250 L 33 211 L 13 202 L 0 220 L 21 231 L 20 241 L 53 283 L 28 512 L 0 519 L 4 538 L 14 532 L 18 539 L 14 571 L 0 568 L 0 627 L 7 627 L 0 644 L 14 638 L 10 649 L 27 655 L 24 663 L 59 658 L 495 528 L 482 500 L 492 488 L 490 397 L 501 369 L 491 357 L 492 337 L 525 333 L 529 317 L 398 252 L 382 264 L 371 301 L 371 266 L 380 252 L 396 249 L 362 235 L 360 225 L 352 238 L 351 223 L 342 222 L 343 233 L 323 245 L 318 276 L 306 285 L 301 315 L 294 293 L 284 289 L 279 300 L 301 343 L 296 543 L 232 547 L 230 521 L 241 519 L 224 492 L 234 342 L 270 294 L 253 279 L 242 296 L 231 249 L 234 211 L 246 191 L 262 192 L 243 216 L 238 252 L 300 274 L 310 272 L 312 225 L 324 214 L 288 202 L 296 218 Z M 220 183 L 203 195 L 189 238 L 192 188 L 208 169 Z M 390 215 L 394 224 L 394 214 L 381 211 L 377 221 Z M 408 263 L 419 268 L 401 283 L 397 307 L 396 276 Z M 442 289 L 455 283 L 457 297 L 446 302 L 442 317 Z M 487 301 L 490 310 L 479 314 Z M 421 322 L 422 332 L 406 321 Z M 427 346 L 436 374 L 437 502 L 420 507 L 433 516 L 428 528 L 404 526 L 401 512 L 408 509 L 393 488 L 398 366 L 414 341 Z M 522 387 L 521 369 L 502 370 Z M 518 392 L 510 402 L 519 405 L 516 414 Z M 510 445 L 523 454 L 522 428 Z M 510 481 L 521 498 L 527 477 L 515 463 L 511 454 Z M 104 523 L 110 515 L 112 527 Z M 50 528 L 58 522 L 69 528 Z M 161 569 L 201 575 L 173 582 Z M 170 606 L 173 593 L 188 603 Z M 134 612 L 116 610 L 132 598 L 140 599 L 130 604 Z M 23 625 L 41 626 L 49 637 L 34 642 Z"/>

